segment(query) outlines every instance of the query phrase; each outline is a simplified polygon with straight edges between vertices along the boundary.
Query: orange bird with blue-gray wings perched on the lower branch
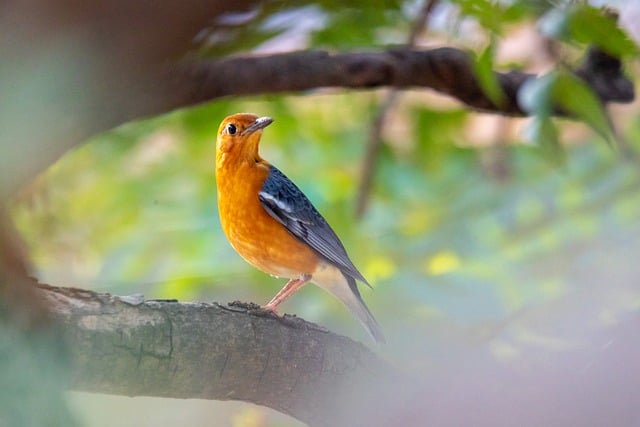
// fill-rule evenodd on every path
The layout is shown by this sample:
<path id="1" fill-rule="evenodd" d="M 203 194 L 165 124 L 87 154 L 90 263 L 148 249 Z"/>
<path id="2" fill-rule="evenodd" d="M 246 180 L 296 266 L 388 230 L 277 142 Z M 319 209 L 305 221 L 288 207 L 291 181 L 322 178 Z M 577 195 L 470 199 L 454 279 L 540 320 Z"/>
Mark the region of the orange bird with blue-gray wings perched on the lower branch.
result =
<path id="1" fill-rule="evenodd" d="M 263 309 L 277 313 L 282 302 L 311 282 L 342 302 L 374 341 L 384 343 L 357 281 L 371 285 L 307 196 L 260 156 L 262 132 L 273 121 L 238 113 L 220 123 L 215 175 L 224 234 L 249 264 L 289 279 Z"/>

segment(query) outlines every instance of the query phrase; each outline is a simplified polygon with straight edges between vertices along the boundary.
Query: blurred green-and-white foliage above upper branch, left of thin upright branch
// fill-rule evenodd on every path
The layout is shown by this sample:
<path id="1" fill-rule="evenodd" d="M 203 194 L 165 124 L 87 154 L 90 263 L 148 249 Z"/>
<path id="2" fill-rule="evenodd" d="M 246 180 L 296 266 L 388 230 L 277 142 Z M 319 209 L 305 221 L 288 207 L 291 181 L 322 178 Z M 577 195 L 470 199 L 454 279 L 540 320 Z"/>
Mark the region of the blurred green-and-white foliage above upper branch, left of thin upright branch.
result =
<path id="1" fill-rule="evenodd" d="M 247 50 L 370 48 L 406 38 L 413 2 L 302 1 L 263 2 L 249 10 L 230 11 L 199 36 L 200 54 L 224 56 Z M 353 25 L 366 22 L 367 25 Z"/>

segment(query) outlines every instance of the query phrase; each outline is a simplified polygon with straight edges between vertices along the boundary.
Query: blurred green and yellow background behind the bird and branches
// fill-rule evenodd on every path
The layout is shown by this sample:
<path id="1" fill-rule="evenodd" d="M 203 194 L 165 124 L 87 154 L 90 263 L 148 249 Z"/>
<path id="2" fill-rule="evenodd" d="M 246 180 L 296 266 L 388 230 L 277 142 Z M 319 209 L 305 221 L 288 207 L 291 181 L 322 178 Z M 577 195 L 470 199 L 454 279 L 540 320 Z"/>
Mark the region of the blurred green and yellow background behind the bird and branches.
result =
<path id="1" fill-rule="evenodd" d="M 536 69 L 549 62 L 537 22 L 546 22 L 547 31 L 556 25 L 556 47 L 569 59 L 601 37 L 580 39 L 586 36 L 567 30 L 573 12 L 546 2 L 509 5 L 440 2 L 418 44 L 479 55 L 495 50 L 490 67 Z M 420 6 L 267 3 L 220 19 L 201 54 L 400 44 Z M 557 23 L 553 13 L 566 22 Z M 354 19 L 366 25 L 350 25 Z M 608 42 L 628 52 L 621 40 Z M 263 157 L 303 189 L 373 285 L 363 297 L 389 341 L 376 351 L 398 366 L 428 373 L 471 351 L 526 369 L 535 355 L 586 345 L 589 331 L 637 313 L 637 104 L 611 109 L 625 144 L 620 149 L 585 124 L 554 121 L 557 140 L 549 140 L 548 133 L 523 130 L 530 120 L 404 92 L 387 117 L 368 209 L 357 218 L 368 134 L 386 94 L 325 89 L 228 99 L 95 136 L 13 203 L 34 274 L 45 283 L 114 294 L 266 303 L 283 280 L 234 253 L 216 207 L 218 124 L 226 115 L 253 112 L 275 118 L 263 136 Z M 590 124 L 598 129 L 594 114 Z M 346 310 L 313 286 L 282 311 L 370 344 Z M 82 393 L 70 394 L 70 402 L 88 426 L 113 425 L 114 408 L 130 413 L 119 425 L 176 425 L 168 412 L 190 414 L 179 418 L 185 425 L 297 425 L 235 403 Z M 212 414 L 219 424 L 210 424 Z"/>

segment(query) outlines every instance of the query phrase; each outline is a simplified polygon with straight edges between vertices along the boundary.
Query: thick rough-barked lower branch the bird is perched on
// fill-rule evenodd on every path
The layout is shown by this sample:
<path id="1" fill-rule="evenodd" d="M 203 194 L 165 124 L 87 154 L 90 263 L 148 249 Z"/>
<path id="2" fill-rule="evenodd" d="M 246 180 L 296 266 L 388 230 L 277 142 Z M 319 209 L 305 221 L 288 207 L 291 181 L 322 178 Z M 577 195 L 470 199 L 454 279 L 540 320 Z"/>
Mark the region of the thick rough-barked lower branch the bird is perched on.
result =
<path id="1" fill-rule="evenodd" d="M 353 425 L 380 395 L 362 390 L 392 375 L 361 344 L 255 307 L 41 290 L 68 333 L 77 390 L 242 400 L 310 425 Z"/>

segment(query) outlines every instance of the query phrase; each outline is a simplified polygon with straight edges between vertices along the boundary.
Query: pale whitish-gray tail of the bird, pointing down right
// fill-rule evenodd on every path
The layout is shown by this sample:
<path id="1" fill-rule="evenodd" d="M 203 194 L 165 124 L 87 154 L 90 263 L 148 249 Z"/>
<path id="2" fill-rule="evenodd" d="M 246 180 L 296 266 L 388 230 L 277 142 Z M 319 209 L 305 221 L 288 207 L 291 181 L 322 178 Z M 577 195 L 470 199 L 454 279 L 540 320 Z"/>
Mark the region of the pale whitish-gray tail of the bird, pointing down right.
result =
<path id="1" fill-rule="evenodd" d="M 338 298 L 349 309 L 351 314 L 360 321 L 369 335 L 371 335 L 371 338 L 377 343 L 384 343 L 382 329 L 362 300 L 356 280 L 342 273 L 336 267 L 329 268 L 333 270 L 331 274 L 323 274 L 321 275 L 323 277 L 320 278 L 314 274 L 314 282 Z"/>

